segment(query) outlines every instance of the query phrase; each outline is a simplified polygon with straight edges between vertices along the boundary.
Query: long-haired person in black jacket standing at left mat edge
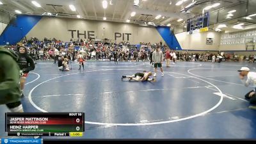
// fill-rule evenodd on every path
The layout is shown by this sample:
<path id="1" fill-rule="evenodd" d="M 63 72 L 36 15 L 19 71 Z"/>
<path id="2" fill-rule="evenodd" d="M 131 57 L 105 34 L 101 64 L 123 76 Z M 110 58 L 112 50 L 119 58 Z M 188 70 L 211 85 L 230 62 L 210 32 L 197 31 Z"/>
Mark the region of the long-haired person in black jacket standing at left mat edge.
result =
<path id="1" fill-rule="evenodd" d="M 23 90 L 26 83 L 26 77 L 31 70 L 35 69 L 35 63 L 33 59 L 28 55 L 28 49 L 24 46 L 17 48 L 19 52 L 18 65 L 20 67 L 20 96 L 24 97 Z"/>

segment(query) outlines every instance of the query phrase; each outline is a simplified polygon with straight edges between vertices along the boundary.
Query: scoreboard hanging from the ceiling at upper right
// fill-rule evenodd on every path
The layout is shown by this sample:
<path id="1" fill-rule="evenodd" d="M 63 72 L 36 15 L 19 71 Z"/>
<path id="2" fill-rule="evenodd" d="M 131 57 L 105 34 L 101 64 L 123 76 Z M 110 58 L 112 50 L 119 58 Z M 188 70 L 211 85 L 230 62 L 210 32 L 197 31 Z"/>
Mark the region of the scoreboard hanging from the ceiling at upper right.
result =
<path id="1" fill-rule="evenodd" d="M 202 13 L 187 20 L 187 32 L 188 34 L 200 33 L 208 31 L 209 26 L 209 12 Z"/>

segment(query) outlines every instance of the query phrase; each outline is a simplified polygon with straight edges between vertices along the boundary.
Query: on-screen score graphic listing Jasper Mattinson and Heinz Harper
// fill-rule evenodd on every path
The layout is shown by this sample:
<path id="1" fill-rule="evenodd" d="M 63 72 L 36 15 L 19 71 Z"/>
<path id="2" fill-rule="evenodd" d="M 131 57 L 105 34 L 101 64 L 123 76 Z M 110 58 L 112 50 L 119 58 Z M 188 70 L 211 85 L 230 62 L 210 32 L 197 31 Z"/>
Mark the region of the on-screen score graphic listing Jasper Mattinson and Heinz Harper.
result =
<path id="1" fill-rule="evenodd" d="M 6 113 L 8 136 L 83 136 L 84 113 Z"/>

